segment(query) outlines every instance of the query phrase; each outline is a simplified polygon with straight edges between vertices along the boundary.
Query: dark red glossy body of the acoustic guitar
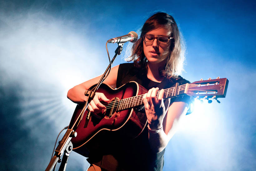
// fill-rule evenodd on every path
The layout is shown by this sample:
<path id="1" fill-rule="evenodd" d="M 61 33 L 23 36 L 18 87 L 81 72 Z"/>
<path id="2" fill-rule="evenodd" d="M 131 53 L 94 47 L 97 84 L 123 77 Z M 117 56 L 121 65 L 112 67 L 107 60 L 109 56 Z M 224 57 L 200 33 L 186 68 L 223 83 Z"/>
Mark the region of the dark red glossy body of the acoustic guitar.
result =
<path id="1" fill-rule="evenodd" d="M 127 138 L 132 139 L 137 137 L 147 123 L 145 113 L 135 112 L 133 108 L 117 110 L 117 104 L 115 104 L 116 100 L 130 98 L 148 92 L 138 83 L 132 81 L 117 89 L 113 89 L 107 84 L 101 84 L 97 92 L 104 93 L 110 99 L 109 104 L 112 104 L 113 107 L 107 107 L 106 112 L 99 115 L 100 117 L 91 115 L 87 127 L 85 127 L 87 111 L 85 112 L 80 124 L 75 130 L 77 136 L 71 139 L 73 150 L 85 157 L 88 157 L 90 152 L 96 152 L 100 147 L 114 146 L 118 139 L 120 142 L 120 139 L 125 140 Z M 82 108 L 83 105 L 76 106 L 69 127 L 75 122 Z"/>

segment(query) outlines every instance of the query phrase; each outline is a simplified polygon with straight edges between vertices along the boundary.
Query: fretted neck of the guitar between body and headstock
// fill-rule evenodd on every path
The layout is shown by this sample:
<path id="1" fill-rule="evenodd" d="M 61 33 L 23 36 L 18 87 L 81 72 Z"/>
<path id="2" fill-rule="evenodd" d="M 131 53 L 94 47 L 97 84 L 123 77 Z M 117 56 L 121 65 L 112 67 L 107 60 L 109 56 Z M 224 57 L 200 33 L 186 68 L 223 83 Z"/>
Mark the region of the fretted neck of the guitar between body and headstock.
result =
<path id="1" fill-rule="evenodd" d="M 173 98 L 176 96 L 181 96 L 181 95 L 186 94 L 188 85 L 189 84 L 184 84 L 184 85 L 178 86 L 178 83 L 176 83 L 175 87 L 164 89 L 164 99 Z M 159 93 L 160 93 L 160 91 L 156 92 L 157 98 L 158 98 Z M 143 99 L 142 99 L 143 96 L 144 96 L 144 94 L 141 94 L 138 96 L 124 98 L 124 99 L 116 101 L 115 105 L 117 105 L 117 111 L 144 105 Z"/>

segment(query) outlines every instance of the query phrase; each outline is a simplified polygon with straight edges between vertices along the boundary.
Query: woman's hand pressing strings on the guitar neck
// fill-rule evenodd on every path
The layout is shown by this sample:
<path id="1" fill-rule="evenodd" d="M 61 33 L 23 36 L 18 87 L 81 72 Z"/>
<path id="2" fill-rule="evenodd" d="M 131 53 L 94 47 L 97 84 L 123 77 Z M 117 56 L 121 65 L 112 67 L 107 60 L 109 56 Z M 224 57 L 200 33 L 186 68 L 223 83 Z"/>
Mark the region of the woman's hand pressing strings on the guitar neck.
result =
<path id="1" fill-rule="evenodd" d="M 159 88 L 151 88 L 143 96 L 143 103 L 151 130 L 157 130 L 163 127 L 163 119 L 170 105 L 170 98 L 164 102 L 164 89 L 161 89 L 158 96 Z"/>

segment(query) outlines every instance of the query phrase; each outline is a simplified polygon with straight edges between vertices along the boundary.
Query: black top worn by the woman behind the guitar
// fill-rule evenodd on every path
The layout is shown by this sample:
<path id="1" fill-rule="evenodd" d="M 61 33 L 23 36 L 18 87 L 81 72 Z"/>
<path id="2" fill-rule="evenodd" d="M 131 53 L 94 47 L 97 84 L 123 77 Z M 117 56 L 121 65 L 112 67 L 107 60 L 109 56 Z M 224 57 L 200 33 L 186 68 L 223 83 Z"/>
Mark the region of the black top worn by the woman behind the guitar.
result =
<path id="1" fill-rule="evenodd" d="M 146 89 L 158 87 L 160 83 L 151 81 L 147 78 L 146 70 L 134 67 L 133 63 L 123 63 L 119 65 L 116 87 L 120 87 L 130 81 L 136 81 Z M 165 80 L 166 81 L 166 80 Z M 175 80 L 171 79 L 161 84 L 161 88 L 170 88 L 179 82 L 181 84 L 189 83 L 184 78 Z M 172 98 L 171 103 L 174 101 L 183 101 L 190 103 L 189 96 L 179 96 Z M 163 150 L 160 153 L 154 153 L 150 149 L 148 142 L 148 129 L 144 129 L 143 132 L 135 139 L 116 144 L 118 150 L 112 149 L 111 154 L 103 155 L 100 162 L 96 165 L 100 166 L 102 170 L 120 170 L 120 171 L 161 171 L 164 166 L 164 153 Z M 88 159 L 89 163 L 95 163 Z"/>

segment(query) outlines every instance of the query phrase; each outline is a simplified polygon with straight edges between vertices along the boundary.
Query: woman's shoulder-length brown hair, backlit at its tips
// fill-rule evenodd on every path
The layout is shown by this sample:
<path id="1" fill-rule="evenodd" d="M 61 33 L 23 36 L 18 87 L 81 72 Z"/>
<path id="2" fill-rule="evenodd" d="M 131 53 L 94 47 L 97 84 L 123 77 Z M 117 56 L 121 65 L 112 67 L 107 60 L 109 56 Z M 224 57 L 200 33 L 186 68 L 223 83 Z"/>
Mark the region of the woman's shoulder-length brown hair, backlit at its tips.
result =
<path id="1" fill-rule="evenodd" d="M 171 46 L 165 69 L 160 71 L 165 78 L 177 78 L 182 72 L 184 65 L 184 46 L 183 41 L 174 18 L 167 13 L 156 13 L 144 23 L 140 38 L 132 46 L 132 54 L 127 61 L 134 61 L 138 68 L 147 68 L 147 59 L 143 52 L 143 36 L 151 30 L 167 27 L 171 31 Z"/>

